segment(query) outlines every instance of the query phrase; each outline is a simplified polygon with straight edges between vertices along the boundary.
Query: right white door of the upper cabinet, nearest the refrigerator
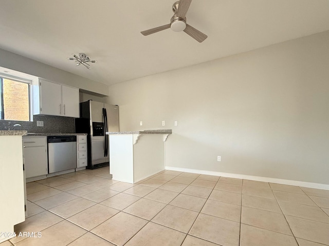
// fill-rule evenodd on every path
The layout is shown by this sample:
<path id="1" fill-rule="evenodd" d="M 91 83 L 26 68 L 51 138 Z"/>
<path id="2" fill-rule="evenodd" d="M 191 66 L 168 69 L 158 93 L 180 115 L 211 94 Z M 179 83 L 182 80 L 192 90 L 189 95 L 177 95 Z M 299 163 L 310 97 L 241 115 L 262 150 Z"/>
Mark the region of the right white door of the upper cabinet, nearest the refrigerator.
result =
<path id="1" fill-rule="evenodd" d="M 62 85 L 62 98 L 63 116 L 79 118 L 79 89 Z"/>

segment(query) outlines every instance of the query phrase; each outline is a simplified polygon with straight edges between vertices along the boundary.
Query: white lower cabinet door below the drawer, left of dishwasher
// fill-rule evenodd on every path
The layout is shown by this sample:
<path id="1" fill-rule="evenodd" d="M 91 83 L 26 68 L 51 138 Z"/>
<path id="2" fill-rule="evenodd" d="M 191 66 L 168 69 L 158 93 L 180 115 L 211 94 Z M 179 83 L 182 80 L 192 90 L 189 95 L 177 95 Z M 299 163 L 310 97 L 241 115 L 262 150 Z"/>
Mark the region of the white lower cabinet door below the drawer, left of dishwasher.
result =
<path id="1" fill-rule="evenodd" d="M 47 152 L 45 146 L 23 148 L 25 159 L 25 177 L 37 177 L 48 174 Z"/>

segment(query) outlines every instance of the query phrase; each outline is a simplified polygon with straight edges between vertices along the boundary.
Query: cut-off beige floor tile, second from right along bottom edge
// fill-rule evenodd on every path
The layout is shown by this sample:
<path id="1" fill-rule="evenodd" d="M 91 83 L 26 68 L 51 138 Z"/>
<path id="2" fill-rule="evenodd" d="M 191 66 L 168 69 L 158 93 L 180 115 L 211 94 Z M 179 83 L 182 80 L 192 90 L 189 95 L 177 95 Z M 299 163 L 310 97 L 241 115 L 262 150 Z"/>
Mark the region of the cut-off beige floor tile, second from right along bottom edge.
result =
<path id="1" fill-rule="evenodd" d="M 293 236 L 241 224 L 241 246 L 298 246 Z"/>

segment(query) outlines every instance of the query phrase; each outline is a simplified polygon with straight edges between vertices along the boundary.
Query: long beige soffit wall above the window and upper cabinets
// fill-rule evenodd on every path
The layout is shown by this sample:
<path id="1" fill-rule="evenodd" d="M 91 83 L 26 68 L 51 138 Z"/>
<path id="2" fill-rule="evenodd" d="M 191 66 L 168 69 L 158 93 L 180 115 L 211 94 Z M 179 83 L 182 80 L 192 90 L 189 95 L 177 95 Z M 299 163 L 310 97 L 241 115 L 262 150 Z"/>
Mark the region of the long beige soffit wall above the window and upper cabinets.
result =
<path id="1" fill-rule="evenodd" d="M 0 49 L 0 67 L 31 74 L 50 81 L 107 96 L 108 86 L 39 61 Z M 65 61 L 64 61 L 65 62 Z"/>

